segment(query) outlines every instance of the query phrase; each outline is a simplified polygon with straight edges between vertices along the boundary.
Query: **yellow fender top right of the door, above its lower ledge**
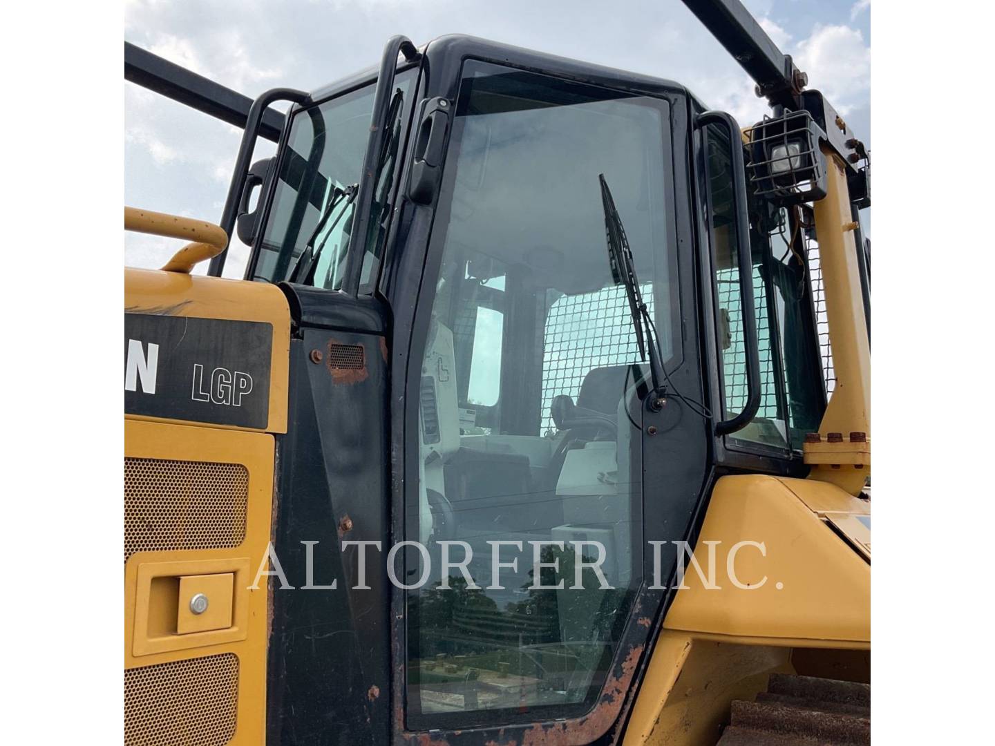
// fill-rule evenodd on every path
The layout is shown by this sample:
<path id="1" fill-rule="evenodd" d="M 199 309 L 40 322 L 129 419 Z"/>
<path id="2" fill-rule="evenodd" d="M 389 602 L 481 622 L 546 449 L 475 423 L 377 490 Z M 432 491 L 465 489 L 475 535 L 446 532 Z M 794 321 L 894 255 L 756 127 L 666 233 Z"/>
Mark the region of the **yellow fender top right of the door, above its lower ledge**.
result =
<path id="1" fill-rule="evenodd" d="M 826 503 L 834 492 L 841 507 L 856 499 L 805 479 L 720 478 L 697 542 L 698 555 L 703 542 L 721 542 L 715 552 L 720 590 L 706 589 L 689 568 L 688 590 L 678 591 L 664 627 L 758 641 L 870 645 L 871 566 L 800 497 Z M 744 540 L 766 549 L 763 556 L 745 546 L 735 556 L 737 578 L 759 586 L 752 590 L 736 588 L 724 575 L 730 548 Z"/>

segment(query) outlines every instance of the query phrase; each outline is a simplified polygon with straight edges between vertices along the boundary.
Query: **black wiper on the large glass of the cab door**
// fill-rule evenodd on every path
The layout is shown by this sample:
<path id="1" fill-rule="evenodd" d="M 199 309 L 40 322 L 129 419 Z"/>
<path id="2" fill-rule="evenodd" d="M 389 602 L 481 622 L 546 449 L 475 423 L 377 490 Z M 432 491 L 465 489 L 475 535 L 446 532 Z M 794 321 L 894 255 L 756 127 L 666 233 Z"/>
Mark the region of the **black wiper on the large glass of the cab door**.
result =
<path id="1" fill-rule="evenodd" d="M 633 329 L 636 332 L 636 342 L 639 354 L 646 360 L 650 357 L 650 376 L 653 379 L 653 391 L 647 397 L 647 406 L 654 412 L 663 407 L 664 366 L 660 362 L 660 347 L 657 345 L 654 333 L 653 319 L 643 300 L 639 278 L 636 277 L 636 266 L 632 260 L 632 249 L 626 238 L 622 218 L 615 209 L 615 200 L 608 188 L 604 174 L 598 174 L 601 183 L 601 205 L 605 211 L 605 233 L 608 238 L 608 263 L 612 268 L 612 279 L 616 284 L 624 284 L 629 297 L 629 312 L 632 316 Z"/>

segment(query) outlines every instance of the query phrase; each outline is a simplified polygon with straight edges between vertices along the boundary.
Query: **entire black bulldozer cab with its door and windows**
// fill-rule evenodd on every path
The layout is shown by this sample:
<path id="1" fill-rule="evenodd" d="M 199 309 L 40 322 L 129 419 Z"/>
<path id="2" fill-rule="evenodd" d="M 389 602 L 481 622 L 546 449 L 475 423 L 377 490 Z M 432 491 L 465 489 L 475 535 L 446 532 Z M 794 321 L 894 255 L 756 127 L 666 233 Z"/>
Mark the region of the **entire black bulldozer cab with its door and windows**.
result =
<path id="1" fill-rule="evenodd" d="M 784 182 L 814 151 L 764 175 L 678 84 L 463 36 L 397 38 L 378 71 L 276 97 L 277 155 L 248 167 L 250 116 L 228 200 L 245 279 L 287 318 L 232 343 L 272 350 L 269 420 L 220 423 L 275 454 L 250 500 L 269 545 L 211 573 L 270 584 L 242 653 L 265 717 L 240 737 L 618 739 L 672 540 L 720 475 L 810 470 L 833 368 L 811 214 L 783 196 L 819 186 Z"/>

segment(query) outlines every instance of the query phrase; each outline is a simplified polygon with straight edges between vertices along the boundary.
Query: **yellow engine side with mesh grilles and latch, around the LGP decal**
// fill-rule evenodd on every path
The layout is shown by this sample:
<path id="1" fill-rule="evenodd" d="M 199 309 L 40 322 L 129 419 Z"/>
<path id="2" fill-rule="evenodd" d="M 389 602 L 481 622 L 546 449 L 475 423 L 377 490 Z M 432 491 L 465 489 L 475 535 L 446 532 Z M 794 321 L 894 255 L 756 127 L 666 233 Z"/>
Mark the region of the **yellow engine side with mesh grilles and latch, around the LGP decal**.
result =
<path id="1" fill-rule="evenodd" d="M 127 464 L 160 469 L 154 478 L 142 477 L 137 491 L 131 487 L 134 502 L 131 512 L 126 510 L 131 532 L 126 537 L 131 539 L 126 538 L 124 565 L 125 742 L 172 743 L 182 733 L 189 734 L 182 737 L 193 739 L 191 743 L 221 738 L 260 744 L 266 725 L 268 585 L 251 586 L 266 562 L 271 538 L 272 434 L 287 432 L 290 309 L 272 284 L 179 272 L 125 270 L 124 297 L 127 313 L 260 321 L 272 328 L 265 428 L 134 415 L 124 420 Z M 198 509 L 184 507 L 194 499 L 193 487 L 186 483 L 194 477 L 162 470 L 180 469 L 161 466 L 176 463 L 192 464 L 201 469 L 198 474 L 215 474 L 197 476 L 208 479 L 198 482 L 196 499 L 207 500 Z M 217 475 L 222 473 L 226 476 Z M 232 473 L 239 474 L 237 490 Z M 236 491 L 238 516 L 225 507 L 210 507 Z M 211 502 L 215 499 L 219 502 Z M 243 514 L 244 538 L 240 523 L 232 528 Z M 148 536 L 154 541 L 142 538 L 143 521 L 149 521 Z M 210 540 L 198 538 L 208 535 Z M 173 536 L 182 541 L 168 543 Z M 150 544 L 156 548 L 147 551 Z M 197 593 L 209 600 L 199 615 L 190 607 Z"/>

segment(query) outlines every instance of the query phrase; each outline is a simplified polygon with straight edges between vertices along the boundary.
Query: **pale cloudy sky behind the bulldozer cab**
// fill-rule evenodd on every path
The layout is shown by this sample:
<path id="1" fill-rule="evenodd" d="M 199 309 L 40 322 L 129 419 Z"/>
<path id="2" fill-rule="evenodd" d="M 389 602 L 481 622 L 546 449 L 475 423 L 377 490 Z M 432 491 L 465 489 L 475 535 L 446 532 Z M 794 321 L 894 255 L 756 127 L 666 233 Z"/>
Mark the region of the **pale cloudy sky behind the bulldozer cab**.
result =
<path id="1" fill-rule="evenodd" d="M 745 5 L 870 147 L 870 0 Z M 249 96 L 370 68 L 394 34 L 422 45 L 454 33 L 676 81 L 741 126 L 767 110 L 681 0 L 126 0 L 124 11 L 126 41 Z M 123 86 L 125 204 L 217 222 L 241 130 Z M 255 157 L 272 152 L 262 141 Z M 864 220 L 870 235 L 870 211 Z M 178 248 L 126 233 L 124 264 L 160 267 Z M 233 242 L 226 276 L 241 277 L 246 257 Z"/>

